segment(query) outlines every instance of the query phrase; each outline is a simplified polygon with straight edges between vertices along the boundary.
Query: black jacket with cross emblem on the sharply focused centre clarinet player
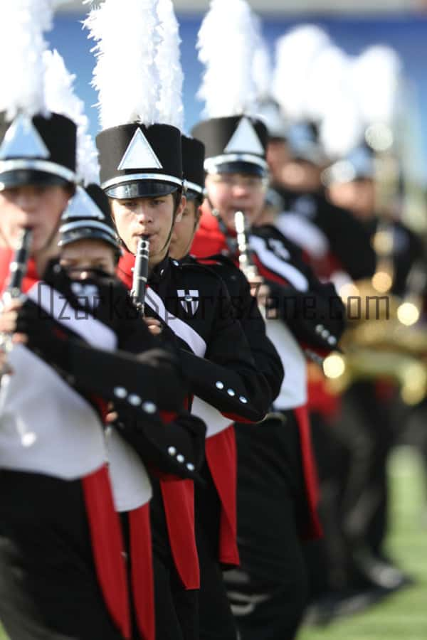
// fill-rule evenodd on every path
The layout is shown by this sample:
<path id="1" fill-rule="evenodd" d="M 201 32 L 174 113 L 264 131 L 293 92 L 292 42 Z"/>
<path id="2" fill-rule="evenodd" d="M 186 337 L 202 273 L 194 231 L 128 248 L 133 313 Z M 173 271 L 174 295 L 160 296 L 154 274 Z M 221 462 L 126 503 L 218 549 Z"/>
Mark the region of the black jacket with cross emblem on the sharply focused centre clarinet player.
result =
<path id="1" fill-rule="evenodd" d="M 134 260 L 127 254 L 119 263 L 128 287 Z M 166 257 L 148 284 L 145 313 L 162 320 L 164 339 L 179 345 L 191 393 L 231 421 L 262 420 L 272 400 L 270 385 L 255 365 L 221 278 L 209 268 Z"/>

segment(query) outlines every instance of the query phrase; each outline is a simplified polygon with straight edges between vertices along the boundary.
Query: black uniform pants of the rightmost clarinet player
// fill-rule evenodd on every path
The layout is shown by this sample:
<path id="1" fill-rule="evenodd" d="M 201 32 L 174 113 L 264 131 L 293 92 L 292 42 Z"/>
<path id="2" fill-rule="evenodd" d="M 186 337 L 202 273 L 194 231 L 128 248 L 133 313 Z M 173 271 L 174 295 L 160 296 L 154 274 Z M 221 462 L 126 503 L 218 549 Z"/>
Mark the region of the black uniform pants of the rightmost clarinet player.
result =
<path id="1" fill-rule="evenodd" d="M 291 411 L 236 425 L 241 567 L 226 573 L 241 640 L 292 640 L 307 602 L 298 533 L 306 514 L 300 437 Z"/>

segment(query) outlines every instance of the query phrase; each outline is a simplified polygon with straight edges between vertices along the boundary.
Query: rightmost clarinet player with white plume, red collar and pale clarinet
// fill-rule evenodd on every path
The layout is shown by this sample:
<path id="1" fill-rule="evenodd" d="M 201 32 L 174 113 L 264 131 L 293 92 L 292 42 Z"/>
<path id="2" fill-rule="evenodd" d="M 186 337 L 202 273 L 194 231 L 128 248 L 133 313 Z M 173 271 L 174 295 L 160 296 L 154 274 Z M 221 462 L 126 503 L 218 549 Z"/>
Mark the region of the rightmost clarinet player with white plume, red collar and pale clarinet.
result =
<path id="1" fill-rule="evenodd" d="M 297 247 L 275 229 L 273 220 L 263 217 L 267 132 L 251 117 L 256 108 L 251 104 L 251 50 L 236 49 L 222 26 L 233 11 L 237 6 L 231 8 L 229 2 L 214 2 L 199 34 L 200 58 L 206 63 L 199 94 L 205 97 L 209 119 L 191 134 L 206 147 L 207 176 L 204 211 L 191 252 L 196 257 L 226 252 L 237 261 L 235 215 L 243 212 L 251 228 L 253 262 L 274 299 L 267 304 L 273 307 L 267 311 L 267 334 L 280 353 L 285 378 L 273 405 L 275 415 L 260 425 L 236 425 L 241 568 L 227 573 L 226 582 L 243 640 L 291 638 L 307 599 L 300 535 L 320 534 L 305 410 L 304 349 L 317 358 L 317 350 L 337 345 L 342 305 L 334 287 L 320 284 Z M 243 27 L 241 21 L 233 31 L 241 33 L 250 25 L 247 20 Z M 220 29 L 223 47 L 218 51 L 214 43 Z M 253 41 L 248 31 L 245 36 L 245 43 Z M 231 79 L 226 86 L 224 78 Z M 274 319 L 269 319 L 271 313 Z"/>

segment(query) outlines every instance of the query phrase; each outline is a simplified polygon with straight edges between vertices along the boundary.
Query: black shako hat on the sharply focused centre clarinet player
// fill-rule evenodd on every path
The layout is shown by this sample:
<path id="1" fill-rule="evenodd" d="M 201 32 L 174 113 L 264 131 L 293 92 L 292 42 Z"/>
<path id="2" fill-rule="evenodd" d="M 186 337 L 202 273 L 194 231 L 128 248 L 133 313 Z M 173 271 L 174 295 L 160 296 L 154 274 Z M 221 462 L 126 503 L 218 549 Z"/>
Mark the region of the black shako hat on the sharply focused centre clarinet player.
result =
<path id="1" fill-rule="evenodd" d="M 97 134 L 101 186 L 110 198 L 166 196 L 182 187 L 181 132 L 132 122 Z"/>

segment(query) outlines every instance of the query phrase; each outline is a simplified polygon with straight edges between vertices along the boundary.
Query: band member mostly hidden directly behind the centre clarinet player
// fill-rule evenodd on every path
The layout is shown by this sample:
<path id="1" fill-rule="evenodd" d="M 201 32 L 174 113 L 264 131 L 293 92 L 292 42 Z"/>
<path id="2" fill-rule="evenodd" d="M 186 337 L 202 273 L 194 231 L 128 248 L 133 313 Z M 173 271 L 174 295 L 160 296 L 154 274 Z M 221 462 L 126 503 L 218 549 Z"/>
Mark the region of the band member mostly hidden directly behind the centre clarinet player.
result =
<path id="1" fill-rule="evenodd" d="M 186 136 L 181 137 L 181 144 L 187 202 L 181 220 L 176 221 L 174 225 L 170 254 L 177 260 L 194 263 L 195 258 L 188 252 L 199 226 L 201 204 L 204 199 L 204 145 L 199 140 Z M 222 253 L 209 256 L 200 262 L 209 267 L 209 270 L 216 272 L 226 283 L 236 318 L 248 338 L 255 364 L 267 378 L 274 399 L 280 391 L 283 366 L 273 343 L 265 334 L 265 322 L 256 304 L 256 298 L 251 295 L 248 280 L 243 272 Z M 253 282 L 253 284 L 255 285 L 254 294 L 260 299 L 262 294 L 260 282 Z M 226 432 L 227 438 L 234 442 L 234 427 L 229 419 L 224 418 L 218 410 L 199 398 L 195 398 L 192 411 L 202 417 L 207 425 L 206 463 L 221 500 L 219 526 L 216 525 L 215 528 L 219 538 L 218 541 L 212 538 L 217 549 L 218 562 L 223 568 L 230 568 L 238 563 L 236 466 L 235 464 L 224 466 L 221 443 L 226 442 L 223 432 Z M 199 497 L 201 509 L 206 511 L 204 492 L 199 491 L 199 494 L 196 493 L 196 498 Z M 214 620 L 216 611 L 212 607 L 212 585 L 209 578 L 205 577 L 203 560 L 204 556 L 201 557 L 199 610 L 201 633 L 205 634 L 208 629 L 213 633 L 217 623 Z M 219 634 L 219 631 L 217 633 Z"/>

